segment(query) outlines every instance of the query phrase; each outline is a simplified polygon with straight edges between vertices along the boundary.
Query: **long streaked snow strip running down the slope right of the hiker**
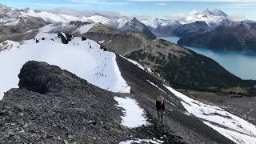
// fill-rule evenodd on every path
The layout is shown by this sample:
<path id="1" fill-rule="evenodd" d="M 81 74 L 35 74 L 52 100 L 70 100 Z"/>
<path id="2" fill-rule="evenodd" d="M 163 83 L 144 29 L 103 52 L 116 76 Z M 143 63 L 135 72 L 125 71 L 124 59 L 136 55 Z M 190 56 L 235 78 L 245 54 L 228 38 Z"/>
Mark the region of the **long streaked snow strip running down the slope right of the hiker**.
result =
<path id="1" fill-rule="evenodd" d="M 166 86 L 166 88 L 181 99 L 182 105 L 189 114 L 202 119 L 207 126 L 212 127 L 226 138 L 238 144 L 256 144 L 256 126 L 218 106 L 198 102 L 170 86 Z"/>

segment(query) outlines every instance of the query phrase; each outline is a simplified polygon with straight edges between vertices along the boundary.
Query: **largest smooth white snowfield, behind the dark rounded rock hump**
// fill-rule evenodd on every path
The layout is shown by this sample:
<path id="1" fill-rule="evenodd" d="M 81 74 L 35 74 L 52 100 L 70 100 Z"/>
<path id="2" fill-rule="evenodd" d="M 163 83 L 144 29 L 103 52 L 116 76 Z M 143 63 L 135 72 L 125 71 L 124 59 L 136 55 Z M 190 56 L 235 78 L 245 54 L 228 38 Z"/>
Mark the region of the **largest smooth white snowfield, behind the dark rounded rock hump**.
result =
<path id="1" fill-rule="evenodd" d="M 105 90 L 130 93 L 130 86 L 121 76 L 115 54 L 101 50 L 97 42 L 73 38 L 64 45 L 58 34 L 46 33 L 39 33 L 36 38 L 40 42 L 32 39 L 0 43 L 0 99 L 4 92 L 18 87 L 20 69 L 31 60 L 69 70 Z"/>

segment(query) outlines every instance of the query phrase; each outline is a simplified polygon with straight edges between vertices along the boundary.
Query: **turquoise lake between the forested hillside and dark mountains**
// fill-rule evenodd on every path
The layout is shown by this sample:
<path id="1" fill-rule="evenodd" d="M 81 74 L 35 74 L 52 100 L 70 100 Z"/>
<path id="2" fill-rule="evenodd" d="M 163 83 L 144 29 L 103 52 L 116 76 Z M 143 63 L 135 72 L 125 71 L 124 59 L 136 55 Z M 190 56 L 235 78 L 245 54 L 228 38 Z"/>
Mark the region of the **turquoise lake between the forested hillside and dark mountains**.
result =
<path id="1" fill-rule="evenodd" d="M 160 37 L 177 44 L 178 37 Z M 184 46 L 198 54 L 214 59 L 230 73 L 242 79 L 256 80 L 256 52 L 251 51 L 220 51 L 198 47 Z"/>

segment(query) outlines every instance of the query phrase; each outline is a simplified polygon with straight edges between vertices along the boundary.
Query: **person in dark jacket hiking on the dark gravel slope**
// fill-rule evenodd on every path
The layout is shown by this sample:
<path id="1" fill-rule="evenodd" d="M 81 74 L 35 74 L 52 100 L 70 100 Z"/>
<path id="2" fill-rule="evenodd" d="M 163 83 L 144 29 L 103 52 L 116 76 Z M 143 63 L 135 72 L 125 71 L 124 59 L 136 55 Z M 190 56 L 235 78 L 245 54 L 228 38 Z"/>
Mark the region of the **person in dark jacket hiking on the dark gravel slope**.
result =
<path id="1" fill-rule="evenodd" d="M 163 114 L 165 114 L 166 107 L 165 107 L 165 102 L 164 102 L 164 98 L 162 95 L 159 96 L 157 102 L 155 103 L 155 107 L 158 110 L 158 123 L 161 118 L 161 123 L 163 126 Z"/>

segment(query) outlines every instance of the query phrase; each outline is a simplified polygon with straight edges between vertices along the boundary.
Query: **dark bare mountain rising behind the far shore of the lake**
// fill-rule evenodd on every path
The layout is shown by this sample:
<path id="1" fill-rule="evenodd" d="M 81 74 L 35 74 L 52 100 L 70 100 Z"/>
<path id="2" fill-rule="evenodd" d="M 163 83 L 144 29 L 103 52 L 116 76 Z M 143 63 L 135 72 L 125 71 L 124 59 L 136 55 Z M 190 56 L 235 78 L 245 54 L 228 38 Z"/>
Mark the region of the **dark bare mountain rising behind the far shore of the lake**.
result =
<path id="1" fill-rule="evenodd" d="M 187 34 L 178 44 L 210 50 L 256 51 L 256 24 L 227 22 L 215 30 Z"/>

